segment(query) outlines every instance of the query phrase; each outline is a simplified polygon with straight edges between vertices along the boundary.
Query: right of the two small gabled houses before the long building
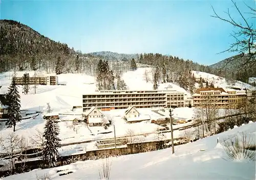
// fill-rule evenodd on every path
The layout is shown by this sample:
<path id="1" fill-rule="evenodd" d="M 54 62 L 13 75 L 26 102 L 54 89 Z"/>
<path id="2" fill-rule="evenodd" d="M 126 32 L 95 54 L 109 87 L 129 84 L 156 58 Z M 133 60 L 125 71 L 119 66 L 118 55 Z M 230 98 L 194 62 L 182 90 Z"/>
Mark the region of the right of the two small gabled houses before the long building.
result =
<path id="1" fill-rule="evenodd" d="M 124 119 L 129 123 L 136 123 L 144 120 L 150 120 L 151 118 L 149 115 L 141 115 L 135 107 L 130 106 L 125 110 Z"/>

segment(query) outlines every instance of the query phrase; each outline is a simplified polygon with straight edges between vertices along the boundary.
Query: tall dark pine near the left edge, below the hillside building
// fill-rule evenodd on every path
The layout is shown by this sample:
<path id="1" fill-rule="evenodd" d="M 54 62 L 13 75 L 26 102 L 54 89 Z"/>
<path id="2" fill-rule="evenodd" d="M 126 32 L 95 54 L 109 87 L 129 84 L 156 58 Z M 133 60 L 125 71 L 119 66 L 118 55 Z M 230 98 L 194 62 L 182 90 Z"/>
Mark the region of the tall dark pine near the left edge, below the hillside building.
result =
<path id="1" fill-rule="evenodd" d="M 13 126 L 13 132 L 15 132 L 15 126 L 17 122 L 22 120 L 22 116 L 20 116 L 20 95 L 18 93 L 18 88 L 16 86 L 16 78 L 12 77 L 12 82 L 10 87 L 8 88 L 8 116 L 9 119 L 6 122 L 8 128 Z"/>

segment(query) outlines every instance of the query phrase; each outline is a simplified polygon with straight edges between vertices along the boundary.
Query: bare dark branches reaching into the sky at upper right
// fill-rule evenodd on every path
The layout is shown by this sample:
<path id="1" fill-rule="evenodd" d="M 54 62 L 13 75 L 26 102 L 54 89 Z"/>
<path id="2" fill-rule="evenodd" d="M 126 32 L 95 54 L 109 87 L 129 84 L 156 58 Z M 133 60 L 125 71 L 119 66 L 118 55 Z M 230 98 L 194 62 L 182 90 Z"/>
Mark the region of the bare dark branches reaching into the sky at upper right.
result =
<path id="1" fill-rule="evenodd" d="M 239 57 L 246 57 L 245 64 L 253 63 L 255 64 L 255 55 L 256 55 L 256 30 L 255 30 L 255 24 L 249 23 L 249 18 L 246 18 L 244 14 L 240 11 L 237 4 L 231 0 L 232 4 L 234 5 L 234 8 L 236 9 L 237 13 L 240 15 L 240 17 L 243 19 L 241 22 L 238 22 L 234 20 L 234 18 L 231 16 L 229 9 L 227 9 L 226 15 L 227 17 L 221 17 L 218 15 L 214 9 L 214 7 L 211 6 L 212 10 L 214 11 L 214 15 L 211 17 L 218 18 L 222 21 L 225 21 L 231 25 L 233 25 L 234 28 L 237 29 L 237 31 L 233 31 L 230 35 L 236 40 L 236 42 L 231 43 L 230 47 L 226 50 L 224 50 L 221 53 L 224 52 L 237 52 L 240 55 Z M 246 4 L 245 4 L 246 5 Z M 254 7 L 250 7 L 246 5 L 248 10 L 247 14 L 251 15 L 251 18 L 255 18 L 256 10 Z M 254 21 L 254 20 L 253 20 Z"/>

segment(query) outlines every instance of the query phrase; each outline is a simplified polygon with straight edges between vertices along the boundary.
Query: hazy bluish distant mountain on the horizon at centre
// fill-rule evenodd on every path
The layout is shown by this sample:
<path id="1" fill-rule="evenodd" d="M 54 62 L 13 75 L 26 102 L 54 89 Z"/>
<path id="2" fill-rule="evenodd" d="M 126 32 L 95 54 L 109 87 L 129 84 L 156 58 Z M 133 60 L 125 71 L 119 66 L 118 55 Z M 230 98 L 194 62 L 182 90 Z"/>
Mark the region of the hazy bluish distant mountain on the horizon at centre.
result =
<path id="1" fill-rule="evenodd" d="M 113 52 L 94 52 L 94 53 L 89 53 L 89 55 L 92 55 L 94 57 L 99 57 L 102 59 L 106 60 L 131 60 L 132 58 L 138 59 L 139 55 L 138 54 L 119 54 L 119 53 L 113 53 Z"/>

